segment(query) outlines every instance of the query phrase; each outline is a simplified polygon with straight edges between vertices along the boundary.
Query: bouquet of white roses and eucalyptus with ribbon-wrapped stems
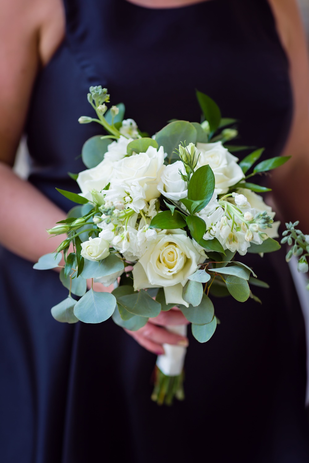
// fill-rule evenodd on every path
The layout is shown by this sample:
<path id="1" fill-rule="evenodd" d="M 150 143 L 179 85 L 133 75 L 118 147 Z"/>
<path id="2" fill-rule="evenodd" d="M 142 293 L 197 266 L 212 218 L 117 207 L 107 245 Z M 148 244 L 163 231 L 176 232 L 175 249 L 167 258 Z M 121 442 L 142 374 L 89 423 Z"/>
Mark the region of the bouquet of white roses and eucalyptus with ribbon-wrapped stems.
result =
<path id="1" fill-rule="evenodd" d="M 82 147 L 87 169 L 76 179 L 80 194 L 58 190 L 76 202 L 67 219 L 48 230 L 67 234 L 55 253 L 41 257 L 36 269 L 57 267 L 68 297 L 52 307 L 60 322 L 101 323 L 112 317 L 138 330 L 150 317 L 177 306 L 191 323 L 192 334 L 208 341 L 219 320 L 211 295 L 230 294 L 239 302 L 259 302 L 251 286 L 267 287 L 241 262 L 247 252 L 275 251 L 280 245 L 275 213 L 256 193 L 269 188 L 247 181 L 275 169 L 288 157 L 260 162 L 263 149 L 238 162 L 227 142 L 238 134 L 234 119 L 223 119 L 218 106 L 197 92 L 202 122 L 173 120 L 152 138 L 123 104 L 107 110 L 106 88 L 91 87 L 88 101 L 95 121 L 108 135 L 90 138 Z M 251 173 L 249 169 L 252 169 Z M 112 293 L 87 290 L 87 280 Z M 76 300 L 73 295 L 79 297 Z M 186 326 L 168 327 L 184 335 Z M 186 349 L 164 345 L 158 356 L 152 399 L 170 404 L 183 398 Z"/>

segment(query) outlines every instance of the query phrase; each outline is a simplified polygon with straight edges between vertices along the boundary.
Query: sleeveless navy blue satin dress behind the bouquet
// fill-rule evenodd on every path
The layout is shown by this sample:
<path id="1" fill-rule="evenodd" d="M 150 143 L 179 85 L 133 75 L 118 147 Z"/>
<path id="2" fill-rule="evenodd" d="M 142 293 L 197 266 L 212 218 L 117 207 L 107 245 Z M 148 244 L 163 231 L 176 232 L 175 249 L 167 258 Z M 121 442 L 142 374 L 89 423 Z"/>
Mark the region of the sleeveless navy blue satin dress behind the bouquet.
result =
<path id="1" fill-rule="evenodd" d="M 102 133 L 77 123 L 92 115 L 91 85 L 151 135 L 172 118 L 200 119 L 197 88 L 240 121 L 241 144 L 280 154 L 292 98 L 266 0 L 158 10 L 66 0 L 65 11 L 66 37 L 38 75 L 26 125 L 29 181 L 63 210 L 74 204 L 55 187 L 78 191 L 67 172 L 84 169 L 82 144 Z M 303 319 L 284 253 L 246 262 L 271 285 L 255 290 L 263 304 L 215 298 L 213 338 L 189 336 L 186 399 L 158 407 L 156 357 L 111 319 L 56 322 L 50 308 L 67 295 L 58 275 L 1 248 L 1 461 L 308 462 Z"/>

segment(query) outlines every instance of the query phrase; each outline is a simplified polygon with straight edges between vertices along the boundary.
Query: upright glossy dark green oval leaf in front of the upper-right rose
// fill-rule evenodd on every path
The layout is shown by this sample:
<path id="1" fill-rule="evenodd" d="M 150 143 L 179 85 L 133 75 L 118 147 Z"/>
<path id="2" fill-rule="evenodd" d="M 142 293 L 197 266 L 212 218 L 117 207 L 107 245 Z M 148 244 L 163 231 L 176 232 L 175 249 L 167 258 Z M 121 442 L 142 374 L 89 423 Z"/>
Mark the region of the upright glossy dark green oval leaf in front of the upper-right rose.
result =
<path id="1" fill-rule="evenodd" d="M 209 165 L 199 167 L 195 170 L 188 185 L 188 199 L 194 201 L 202 200 L 202 204 L 195 208 L 192 213 L 201 211 L 214 194 L 214 172 Z"/>

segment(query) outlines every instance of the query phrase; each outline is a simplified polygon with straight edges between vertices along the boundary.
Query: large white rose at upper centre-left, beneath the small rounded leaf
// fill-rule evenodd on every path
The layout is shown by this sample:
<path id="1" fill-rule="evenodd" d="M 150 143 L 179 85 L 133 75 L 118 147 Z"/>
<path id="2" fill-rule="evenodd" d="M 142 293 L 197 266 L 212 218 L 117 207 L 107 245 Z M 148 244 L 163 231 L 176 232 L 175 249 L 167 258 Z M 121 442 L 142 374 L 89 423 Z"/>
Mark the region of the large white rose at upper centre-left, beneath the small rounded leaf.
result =
<path id="1" fill-rule="evenodd" d="M 137 180 L 145 190 L 146 201 L 150 201 L 160 196 L 157 185 L 163 163 L 163 146 L 160 146 L 158 151 L 153 146 L 149 146 L 145 153 L 127 156 L 114 163 L 113 175 L 128 184 Z"/>

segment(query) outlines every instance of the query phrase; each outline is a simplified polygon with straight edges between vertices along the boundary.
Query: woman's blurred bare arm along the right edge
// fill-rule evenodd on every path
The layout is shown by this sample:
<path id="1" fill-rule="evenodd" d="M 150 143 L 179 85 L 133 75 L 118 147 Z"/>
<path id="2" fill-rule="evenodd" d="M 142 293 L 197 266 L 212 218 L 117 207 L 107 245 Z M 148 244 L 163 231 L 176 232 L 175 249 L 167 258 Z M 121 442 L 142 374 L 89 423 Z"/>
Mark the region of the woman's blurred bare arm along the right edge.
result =
<path id="1" fill-rule="evenodd" d="M 294 115 L 284 155 L 292 158 L 272 177 L 274 198 L 286 220 L 300 220 L 309 232 L 309 60 L 296 0 L 269 0 L 290 61 Z"/>

